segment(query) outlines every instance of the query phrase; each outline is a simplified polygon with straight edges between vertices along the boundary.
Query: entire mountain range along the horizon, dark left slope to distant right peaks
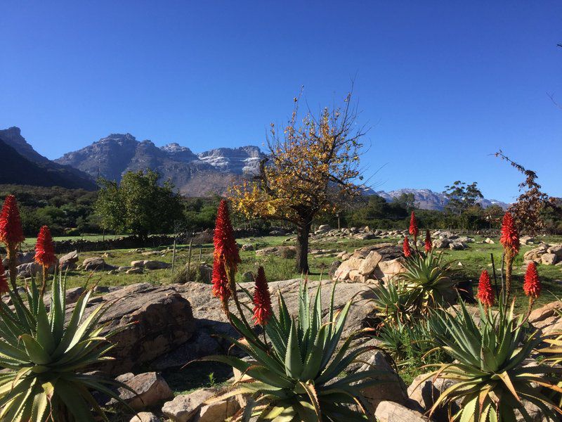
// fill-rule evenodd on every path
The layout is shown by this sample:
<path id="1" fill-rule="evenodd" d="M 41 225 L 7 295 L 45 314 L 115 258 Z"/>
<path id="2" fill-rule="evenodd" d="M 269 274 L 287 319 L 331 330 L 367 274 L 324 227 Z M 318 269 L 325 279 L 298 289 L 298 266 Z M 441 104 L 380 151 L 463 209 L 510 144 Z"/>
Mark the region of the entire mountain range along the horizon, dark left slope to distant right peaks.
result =
<path id="1" fill-rule="evenodd" d="M 119 181 L 126 171 L 150 168 L 162 179 L 170 179 L 185 196 L 225 193 L 230 184 L 255 174 L 266 156 L 257 146 L 216 148 L 196 154 L 178 143 L 158 147 L 152 141 L 137 141 L 131 134 L 110 134 L 51 161 L 27 143 L 18 127 L 0 130 L 0 154 L 4 162 L 0 184 L 95 189 L 98 177 Z M 447 205 L 443 193 L 429 189 L 374 192 L 365 188 L 366 195 L 377 194 L 388 201 L 402 193 L 414 193 L 417 205 L 426 210 L 443 210 Z M 480 202 L 483 207 L 508 206 L 497 200 Z"/>

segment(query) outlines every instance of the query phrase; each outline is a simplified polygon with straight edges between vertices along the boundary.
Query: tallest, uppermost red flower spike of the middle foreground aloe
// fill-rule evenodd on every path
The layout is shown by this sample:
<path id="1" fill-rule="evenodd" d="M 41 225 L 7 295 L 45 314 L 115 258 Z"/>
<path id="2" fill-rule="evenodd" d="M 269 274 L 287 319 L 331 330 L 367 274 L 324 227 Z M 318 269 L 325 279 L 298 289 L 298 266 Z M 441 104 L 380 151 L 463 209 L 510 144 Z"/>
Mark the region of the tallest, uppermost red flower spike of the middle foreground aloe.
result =
<path id="1" fill-rule="evenodd" d="M 233 225 L 230 222 L 226 200 L 221 200 L 221 203 L 218 205 L 213 243 L 215 247 L 215 260 L 218 258 L 230 270 L 237 271 L 238 264 L 242 260 L 240 260 L 240 253 L 234 239 Z"/>

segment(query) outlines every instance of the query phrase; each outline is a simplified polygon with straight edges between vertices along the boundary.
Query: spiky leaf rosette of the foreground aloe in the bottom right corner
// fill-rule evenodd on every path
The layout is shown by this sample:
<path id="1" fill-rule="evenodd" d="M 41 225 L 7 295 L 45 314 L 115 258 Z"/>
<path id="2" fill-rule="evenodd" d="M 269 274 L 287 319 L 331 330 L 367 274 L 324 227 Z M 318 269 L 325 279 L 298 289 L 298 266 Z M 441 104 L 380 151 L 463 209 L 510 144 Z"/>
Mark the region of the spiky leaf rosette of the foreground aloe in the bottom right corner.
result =
<path id="1" fill-rule="evenodd" d="M 542 339 L 536 331 L 527 335 L 523 316 L 514 316 L 514 302 L 511 307 L 500 303 L 497 312 L 480 306 L 479 324 L 462 302 L 455 313 L 441 310 L 435 316 L 429 320 L 435 343 L 455 362 L 440 364 L 426 379 L 455 383 L 441 393 L 431 413 L 443 404 L 451 411 L 452 403 L 460 401 L 460 410 L 451 420 L 515 422 L 514 409 L 518 409 L 525 421 L 532 421 L 523 406 L 525 399 L 544 416 L 558 420 L 556 412 L 562 414 L 562 410 L 540 388 L 562 392 L 556 385 L 562 369 L 525 365 Z"/>

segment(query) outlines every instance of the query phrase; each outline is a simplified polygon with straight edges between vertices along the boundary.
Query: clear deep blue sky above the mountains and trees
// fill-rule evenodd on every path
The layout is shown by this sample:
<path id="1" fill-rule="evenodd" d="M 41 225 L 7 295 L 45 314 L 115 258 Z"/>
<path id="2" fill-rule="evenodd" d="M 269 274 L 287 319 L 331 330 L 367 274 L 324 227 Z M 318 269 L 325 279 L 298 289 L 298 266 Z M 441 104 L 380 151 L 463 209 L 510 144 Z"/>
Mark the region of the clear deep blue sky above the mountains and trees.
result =
<path id="1" fill-rule="evenodd" d="M 0 128 L 48 158 L 125 132 L 261 146 L 301 85 L 318 109 L 355 78 L 377 189 L 460 179 L 511 201 L 502 148 L 562 196 L 558 43 L 559 0 L 2 0 Z"/>

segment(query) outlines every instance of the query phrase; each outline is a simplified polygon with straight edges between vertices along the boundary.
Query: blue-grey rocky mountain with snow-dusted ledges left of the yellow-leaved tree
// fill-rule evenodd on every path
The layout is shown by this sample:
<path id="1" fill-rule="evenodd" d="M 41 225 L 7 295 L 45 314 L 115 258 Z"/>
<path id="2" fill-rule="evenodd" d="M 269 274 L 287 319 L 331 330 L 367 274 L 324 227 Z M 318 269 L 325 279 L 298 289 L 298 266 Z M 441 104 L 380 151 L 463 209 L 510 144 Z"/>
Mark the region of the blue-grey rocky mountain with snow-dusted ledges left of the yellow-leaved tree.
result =
<path id="1" fill-rule="evenodd" d="M 186 196 L 224 193 L 226 188 L 259 168 L 263 153 L 256 146 L 218 148 L 195 155 L 178 143 L 157 147 L 131 134 L 110 134 L 55 162 L 70 165 L 92 177 L 119 181 L 128 170 L 151 169 L 171 179 Z"/>

